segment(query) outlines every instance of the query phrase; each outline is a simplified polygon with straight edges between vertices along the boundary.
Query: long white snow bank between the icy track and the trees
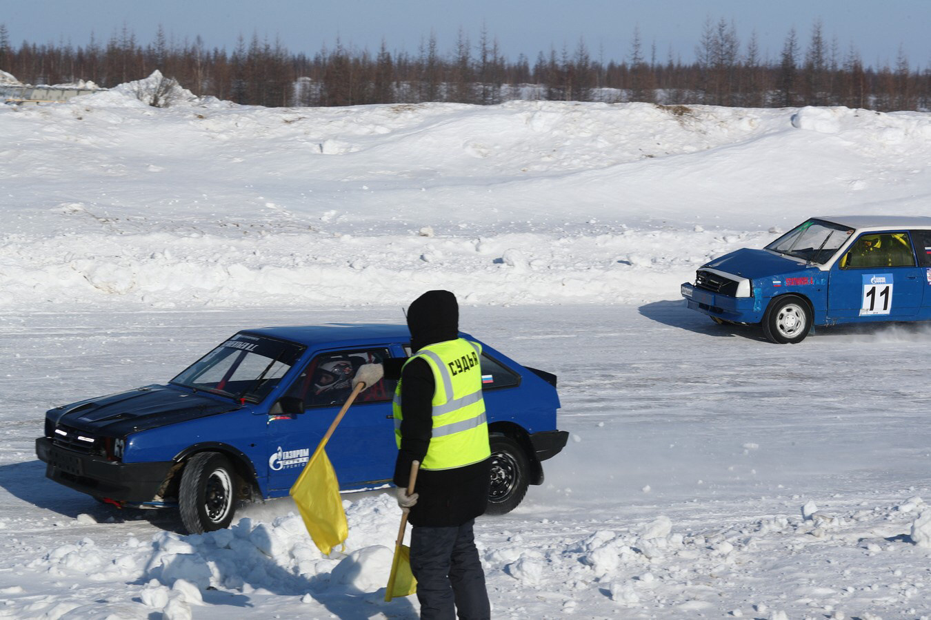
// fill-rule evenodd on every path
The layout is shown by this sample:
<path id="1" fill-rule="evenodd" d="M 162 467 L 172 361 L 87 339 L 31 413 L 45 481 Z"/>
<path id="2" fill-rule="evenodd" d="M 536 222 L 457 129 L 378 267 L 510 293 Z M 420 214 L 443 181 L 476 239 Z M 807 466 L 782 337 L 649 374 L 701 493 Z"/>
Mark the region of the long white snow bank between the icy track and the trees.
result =
<path id="1" fill-rule="evenodd" d="M 931 184 L 918 112 L 263 109 L 166 85 L 0 110 L 0 307 L 652 302 L 811 215 L 924 213 Z"/>

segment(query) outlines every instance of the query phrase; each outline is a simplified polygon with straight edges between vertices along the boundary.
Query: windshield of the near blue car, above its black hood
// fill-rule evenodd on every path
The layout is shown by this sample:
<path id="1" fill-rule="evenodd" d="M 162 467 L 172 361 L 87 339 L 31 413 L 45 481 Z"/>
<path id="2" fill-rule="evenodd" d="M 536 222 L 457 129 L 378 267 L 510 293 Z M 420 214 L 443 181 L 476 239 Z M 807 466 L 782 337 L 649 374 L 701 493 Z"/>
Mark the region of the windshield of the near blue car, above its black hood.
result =
<path id="1" fill-rule="evenodd" d="M 236 334 L 191 364 L 171 383 L 248 402 L 260 402 L 301 356 L 304 347 L 274 338 Z"/>

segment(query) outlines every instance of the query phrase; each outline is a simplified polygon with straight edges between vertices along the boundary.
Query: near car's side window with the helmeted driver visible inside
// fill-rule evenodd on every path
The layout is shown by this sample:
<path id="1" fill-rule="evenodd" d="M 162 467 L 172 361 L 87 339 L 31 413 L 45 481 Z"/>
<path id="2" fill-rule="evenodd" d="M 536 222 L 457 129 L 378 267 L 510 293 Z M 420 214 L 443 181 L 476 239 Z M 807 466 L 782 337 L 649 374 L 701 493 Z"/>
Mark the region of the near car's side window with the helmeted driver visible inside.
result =
<path id="1" fill-rule="evenodd" d="M 342 405 L 352 392 L 352 379 L 359 366 L 383 363 L 389 357 L 385 348 L 321 353 L 307 364 L 291 385 L 288 395 L 304 399 L 305 407 Z M 360 392 L 356 402 L 390 401 L 397 383 L 383 378 L 371 388 Z"/>

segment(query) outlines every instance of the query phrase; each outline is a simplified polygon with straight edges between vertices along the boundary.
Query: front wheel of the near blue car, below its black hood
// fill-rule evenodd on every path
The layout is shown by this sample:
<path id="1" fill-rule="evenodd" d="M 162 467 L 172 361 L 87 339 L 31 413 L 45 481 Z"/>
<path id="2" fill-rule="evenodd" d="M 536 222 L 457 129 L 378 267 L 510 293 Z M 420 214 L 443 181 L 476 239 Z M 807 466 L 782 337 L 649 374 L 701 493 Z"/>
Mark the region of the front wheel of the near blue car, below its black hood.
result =
<path id="1" fill-rule="evenodd" d="M 229 459 L 201 452 L 188 459 L 178 489 L 181 521 L 190 534 L 229 527 L 236 512 L 236 471 Z"/>

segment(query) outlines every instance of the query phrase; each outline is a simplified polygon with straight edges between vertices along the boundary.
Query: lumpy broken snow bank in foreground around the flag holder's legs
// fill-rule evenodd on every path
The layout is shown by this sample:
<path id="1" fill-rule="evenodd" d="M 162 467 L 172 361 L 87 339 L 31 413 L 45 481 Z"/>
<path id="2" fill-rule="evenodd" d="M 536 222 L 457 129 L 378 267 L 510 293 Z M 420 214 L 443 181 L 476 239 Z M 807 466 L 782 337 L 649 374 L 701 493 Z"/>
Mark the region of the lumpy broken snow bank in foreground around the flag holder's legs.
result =
<path id="1" fill-rule="evenodd" d="M 903 509 L 909 503 L 914 508 Z M 285 609 L 361 597 L 376 610 L 397 613 L 400 603 L 384 603 L 383 597 L 400 511 L 390 494 L 345 501 L 344 506 L 350 537 L 345 553 L 335 551 L 331 558 L 320 555 L 301 518 L 291 513 L 267 522 L 243 518 L 229 529 L 208 534 L 155 534 L 149 543 L 130 536 L 117 547 L 99 546 L 84 537 L 53 548 L 29 568 L 60 579 L 141 584 L 139 603 L 164 617 L 194 617 L 199 614 L 196 607 L 211 605 L 208 599 L 223 593 L 276 600 Z M 747 598 L 729 608 L 730 615 L 788 617 L 782 610 L 802 605 L 830 617 L 856 617 L 897 610 L 902 601 L 916 599 L 931 587 L 926 573 L 906 576 L 896 568 L 909 553 L 899 542 L 901 533 L 919 507 L 924 507 L 920 498 L 875 508 L 830 506 L 839 514 L 830 522 L 771 516 L 722 522 L 711 529 L 706 523 L 702 532 L 682 531 L 665 516 L 624 531 L 587 534 L 570 534 L 546 520 L 523 534 L 495 532 L 494 521 L 479 520 L 477 537 L 492 595 L 505 592 L 508 582 L 552 592 L 546 605 L 555 602 L 564 613 L 587 613 L 593 602 L 604 599 L 630 613 L 667 607 L 664 617 L 708 613 L 719 609 L 723 592 L 735 604 L 737 587 L 744 594 L 737 594 L 736 600 Z M 927 534 L 928 514 L 925 511 L 911 526 L 913 538 L 916 531 Z M 787 573 L 786 558 L 791 566 L 817 574 L 816 580 Z M 816 568 L 830 567 L 838 558 L 848 560 L 836 571 Z M 889 576 L 877 581 L 880 566 L 888 567 Z M 30 589 L 27 584 L 5 592 L 12 609 L 20 609 Z M 567 591 L 572 594 L 555 594 Z M 540 605 L 527 607 L 519 599 L 513 603 L 518 606 L 499 607 L 495 613 L 522 609 L 525 617 L 548 614 Z M 79 601 L 55 604 L 61 611 L 77 608 Z M 48 613 L 41 606 L 34 611 Z"/>

